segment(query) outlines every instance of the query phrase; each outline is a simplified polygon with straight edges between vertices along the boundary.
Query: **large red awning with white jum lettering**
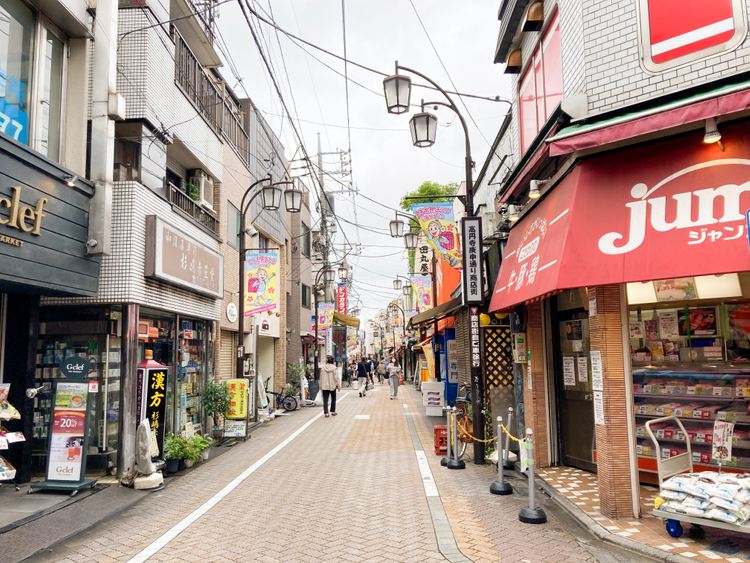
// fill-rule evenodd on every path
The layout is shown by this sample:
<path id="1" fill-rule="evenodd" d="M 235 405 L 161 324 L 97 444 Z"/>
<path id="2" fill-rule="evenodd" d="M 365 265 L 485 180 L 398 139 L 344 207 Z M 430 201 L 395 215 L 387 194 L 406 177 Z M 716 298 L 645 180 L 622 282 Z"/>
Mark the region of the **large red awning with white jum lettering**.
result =
<path id="1" fill-rule="evenodd" d="M 510 232 L 490 303 L 577 287 L 750 270 L 750 128 L 580 163 Z"/>

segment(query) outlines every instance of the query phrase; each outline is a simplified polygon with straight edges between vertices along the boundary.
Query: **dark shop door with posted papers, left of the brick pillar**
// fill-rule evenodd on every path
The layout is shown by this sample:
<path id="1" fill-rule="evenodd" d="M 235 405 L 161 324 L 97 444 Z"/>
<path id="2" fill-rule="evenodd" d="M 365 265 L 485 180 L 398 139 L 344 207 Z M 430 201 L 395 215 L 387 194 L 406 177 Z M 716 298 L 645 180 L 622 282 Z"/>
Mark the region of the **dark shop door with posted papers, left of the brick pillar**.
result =
<path id="1" fill-rule="evenodd" d="M 565 291 L 552 299 L 557 433 L 562 464 L 595 472 L 589 319 L 582 291 Z"/>

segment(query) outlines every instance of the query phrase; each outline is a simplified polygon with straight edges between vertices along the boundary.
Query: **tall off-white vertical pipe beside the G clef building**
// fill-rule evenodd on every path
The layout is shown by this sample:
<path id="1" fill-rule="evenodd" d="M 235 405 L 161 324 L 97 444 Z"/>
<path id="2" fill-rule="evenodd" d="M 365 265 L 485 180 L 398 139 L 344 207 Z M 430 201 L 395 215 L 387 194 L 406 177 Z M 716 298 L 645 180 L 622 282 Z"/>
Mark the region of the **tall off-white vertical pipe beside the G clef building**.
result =
<path id="1" fill-rule="evenodd" d="M 98 0 L 94 21 L 94 81 L 91 96 L 90 179 L 96 186 L 89 215 L 89 254 L 109 254 L 115 123 L 110 94 L 117 89 L 117 1 Z"/>

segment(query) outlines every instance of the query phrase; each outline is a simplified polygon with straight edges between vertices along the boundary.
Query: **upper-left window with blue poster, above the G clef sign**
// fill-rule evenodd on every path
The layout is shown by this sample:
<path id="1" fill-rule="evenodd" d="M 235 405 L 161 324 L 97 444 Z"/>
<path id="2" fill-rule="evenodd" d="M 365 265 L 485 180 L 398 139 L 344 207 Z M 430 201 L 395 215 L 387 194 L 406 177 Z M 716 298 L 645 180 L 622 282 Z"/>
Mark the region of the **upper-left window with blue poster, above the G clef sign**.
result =
<path id="1" fill-rule="evenodd" d="M 55 161 L 61 157 L 66 49 L 64 36 L 26 4 L 0 0 L 0 133 Z"/>

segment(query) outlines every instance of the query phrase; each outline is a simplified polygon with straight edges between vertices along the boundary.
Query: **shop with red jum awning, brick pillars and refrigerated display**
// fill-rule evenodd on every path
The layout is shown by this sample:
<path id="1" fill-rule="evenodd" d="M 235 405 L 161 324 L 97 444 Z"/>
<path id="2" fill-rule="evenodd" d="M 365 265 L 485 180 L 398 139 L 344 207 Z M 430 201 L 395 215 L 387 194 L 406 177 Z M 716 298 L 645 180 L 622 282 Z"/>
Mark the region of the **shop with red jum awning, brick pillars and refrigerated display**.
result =
<path id="1" fill-rule="evenodd" d="M 664 428 L 654 451 L 649 418 L 687 422 L 696 469 L 716 468 L 706 429 L 735 420 L 728 465 L 750 469 L 750 134 L 721 132 L 575 162 L 506 245 L 490 311 L 527 337 L 537 459 L 597 471 L 606 516 L 638 515 L 655 456 L 684 450 Z"/>

